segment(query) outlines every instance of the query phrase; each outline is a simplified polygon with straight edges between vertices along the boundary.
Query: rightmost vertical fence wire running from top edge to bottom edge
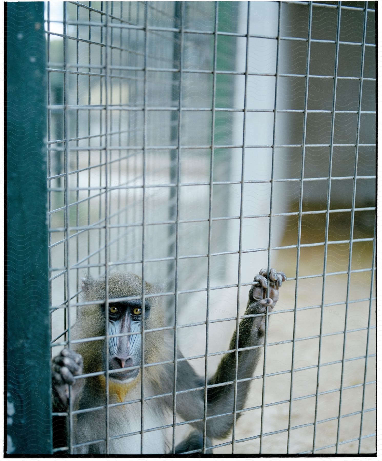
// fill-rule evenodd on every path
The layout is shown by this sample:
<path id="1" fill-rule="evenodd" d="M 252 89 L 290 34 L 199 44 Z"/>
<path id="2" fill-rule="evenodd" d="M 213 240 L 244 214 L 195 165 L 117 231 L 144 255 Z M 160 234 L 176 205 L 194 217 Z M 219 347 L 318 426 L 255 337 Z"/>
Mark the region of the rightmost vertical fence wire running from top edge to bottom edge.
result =
<path id="1" fill-rule="evenodd" d="M 342 408 L 342 388 L 343 388 L 343 384 L 344 384 L 347 315 L 348 315 L 348 310 L 349 310 L 348 307 L 349 307 L 349 296 L 350 296 L 350 278 L 351 278 L 351 270 L 352 270 L 352 251 L 353 251 L 353 235 L 354 235 L 354 208 L 355 208 L 356 189 L 357 189 L 359 130 L 360 130 L 360 126 L 361 126 L 362 88 L 363 88 L 363 83 L 364 83 L 363 78 L 364 78 L 364 57 L 365 57 L 366 24 L 367 24 L 367 3 L 368 2 L 365 1 L 364 30 L 363 30 L 363 36 L 362 36 L 362 52 L 361 52 L 361 71 L 360 71 L 359 94 L 358 94 L 357 134 L 356 134 L 355 159 L 354 159 L 352 214 L 351 214 L 351 220 L 350 220 L 349 264 L 348 264 L 348 269 L 347 269 L 344 342 L 343 342 L 343 347 L 342 347 L 340 402 L 339 402 L 339 406 L 338 406 L 337 440 L 336 440 L 336 444 L 335 444 L 335 452 L 336 453 L 338 452 L 338 444 L 340 442 L 340 421 L 341 421 L 340 415 L 341 415 L 341 408 Z M 373 268 L 372 268 L 372 270 L 373 270 Z M 365 360 L 367 360 L 367 357 L 366 357 Z"/>

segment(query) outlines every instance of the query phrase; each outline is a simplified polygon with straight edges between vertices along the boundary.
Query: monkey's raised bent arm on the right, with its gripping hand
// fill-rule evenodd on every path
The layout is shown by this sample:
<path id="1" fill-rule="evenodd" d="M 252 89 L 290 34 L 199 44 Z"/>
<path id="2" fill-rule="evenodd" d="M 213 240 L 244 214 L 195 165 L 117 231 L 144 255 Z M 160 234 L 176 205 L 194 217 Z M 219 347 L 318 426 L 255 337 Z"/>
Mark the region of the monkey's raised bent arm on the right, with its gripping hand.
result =
<path id="1" fill-rule="evenodd" d="M 269 271 L 269 297 L 266 296 L 267 289 L 267 271 L 261 270 L 260 273 L 255 276 L 254 282 L 256 285 L 252 285 L 249 291 L 249 300 L 245 315 L 248 314 L 261 314 L 265 313 L 266 308 L 269 308 L 269 312 L 275 307 L 277 300 L 279 299 L 279 288 L 283 281 L 286 280 L 286 276 L 283 272 L 276 272 L 275 269 Z M 249 317 L 242 319 L 239 325 L 239 348 L 246 348 L 251 346 L 257 346 L 263 343 L 265 330 L 265 317 L 264 315 L 258 317 Z M 236 331 L 230 342 L 229 349 L 236 348 Z M 237 378 L 251 378 L 257 366 L 257 362 L 261 355 L 262 348 L 250 349 L 240 351 L 238 353 L 238 372 Z M 184 364 L 184 365 L 181 365 Z M 185 365 L 187 364 L 187 365 Z M 188 389 L 190 389 L 190 383 L 195 382 L 198 386 L 204 384 L 201 383 L 200 378 L 191 379 L 191 365 L 187 362 L 179 362 L 181 368 L 187 368 L 185 375 L 188 375 Z M 179 376 L 185 376 L 183 371 L 180 372 Z M 235 379 L 235 353 L 226 354 L 216 372 L 215 375 L 209 379 L 208 384 L 221 384 Z M 248 394 L 249 386 L 251 381 L 244 381 L 237 384 L 236 394 L 236 409 L 240 410 L 244 408 L 245 399 Z M 185 385 L 185 384 L 183 384 Z M 197 387 L 197 385 L 195 387 Z M 203 391 L 191 392 L 194 397 L 191 401 L 191 395 L 184 395 L 182 405 L 177 405 L 179 408 L 179 414 L 187 420 L 197 419 L 203 417 Z M 234 384 L 227 384 L 218 387 L 213 387 L 208 390 L 207 394 L 207 415 L 217 416 L 219 414 L 225 414 L 233 412 L 234 402 Z M 180 402 L 179 402 L 180 403 Z M 240 414 L 239 414 L 240 415 Z M 239 417 L 237 415 L 237 417 Z M 189 439 L 186 439 L 181 445 L 177 447 L 177 452 L 188 451 L 192 449 L 202 448 L 203 437 L 201 436 L 201 429 L 203 423 L 197 423 L 197 432 L 192 433 Z M 230 429 L 233 426 L 233 414 L 226 416 L 211 418 L 207 421 L 207 437 L 208 438 L 221 438 L 227 436 Z M 203 432 L 202 432 L 203 433 Z M 197 439 L 199 443 L 201 441 L 202 446 L 197 447 Z M 190 442 L 190 443 L 189 443 Z M 187 446 L 188 445 L 188 446 Z M 193 448 L 190 448 L 193 447 Z"/>

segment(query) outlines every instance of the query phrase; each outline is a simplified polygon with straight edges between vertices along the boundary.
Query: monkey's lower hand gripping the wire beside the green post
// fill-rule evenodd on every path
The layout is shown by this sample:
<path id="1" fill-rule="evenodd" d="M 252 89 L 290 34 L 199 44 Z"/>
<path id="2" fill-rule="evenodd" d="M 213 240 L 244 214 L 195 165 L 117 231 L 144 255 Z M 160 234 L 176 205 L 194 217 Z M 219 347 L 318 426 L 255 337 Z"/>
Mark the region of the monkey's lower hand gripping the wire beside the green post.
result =
<path id="1" fill-rule="evenodd" d="M 71 349 L 62 349 L 52 361 L 53 407 L 66 410 L 69 400 L 69 384 L 72 385 L 72 398 L 76 398 L 82 388 L 82 379 L 74 379 L 83 372 L 82 356 Z"/>

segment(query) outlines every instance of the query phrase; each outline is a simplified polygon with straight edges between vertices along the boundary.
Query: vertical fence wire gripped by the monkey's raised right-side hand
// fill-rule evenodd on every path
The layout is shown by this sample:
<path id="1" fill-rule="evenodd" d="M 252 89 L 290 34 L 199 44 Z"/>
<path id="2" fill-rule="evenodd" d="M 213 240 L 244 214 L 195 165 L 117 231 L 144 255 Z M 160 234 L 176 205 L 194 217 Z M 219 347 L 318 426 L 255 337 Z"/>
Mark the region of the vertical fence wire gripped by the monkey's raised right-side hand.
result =
<path id="1" fill-rule="evenodd" d="M 279 78 L 279 52 L 280 52 L 280 23 L 281 23 L 281 5 L 279 2 L 279 12 L 277 19 L 277 48 L 276 48 L 276 76 L 275 76 L 275 103 L 273 113 L 273 136 L 272 136 L 272 166 L 271 166 L 271 190 L 269 201 L 269 238 L 268 238 L 268 271 L 270 269 L 271 248 L 272 248 L 272 212 L 273 212 L 273 189 L 274 189 L 274 175 L 275 175 L 275 145 L 276 145 L 276 121 L 277 121 L 277 91 L 278 91 L 278 78 Z M 269 296 L 269 272 L 267 296 Z M 263 449 L 263 428 L 264 428 L 264 408 L 265 408 L 265 375 L 267 365 L 267 337 L 268 337 L 268 323 L 269 323 L 269 307 L 265 308 L 265 333 L 264 333 L 264 359 L 263 359 L 263 389 L 261 397 L 261 420 L 260 420 L 260 448 L 259 453 Z"/>

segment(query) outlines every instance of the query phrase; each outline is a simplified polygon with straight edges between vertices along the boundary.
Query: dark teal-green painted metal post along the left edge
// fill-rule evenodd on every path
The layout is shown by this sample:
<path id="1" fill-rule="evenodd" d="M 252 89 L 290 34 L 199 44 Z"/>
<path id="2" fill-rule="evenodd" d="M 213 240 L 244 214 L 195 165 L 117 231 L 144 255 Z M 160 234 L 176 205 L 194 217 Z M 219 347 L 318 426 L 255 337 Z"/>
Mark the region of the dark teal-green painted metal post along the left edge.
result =
<path id="1" fill-rule="evenodd" d="M 51 454 L 44 2 L 6 3 L 7 455 Z"/>

